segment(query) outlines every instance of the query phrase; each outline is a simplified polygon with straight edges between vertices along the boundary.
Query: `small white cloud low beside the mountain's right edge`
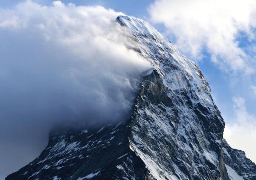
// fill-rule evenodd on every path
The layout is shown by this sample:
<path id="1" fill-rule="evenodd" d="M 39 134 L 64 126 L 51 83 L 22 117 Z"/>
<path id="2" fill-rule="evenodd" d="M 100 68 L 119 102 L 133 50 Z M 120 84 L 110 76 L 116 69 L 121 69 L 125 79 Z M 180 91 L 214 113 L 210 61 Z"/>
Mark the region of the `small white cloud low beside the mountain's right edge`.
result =
<path id="1" fill-rule="evenodd" d="M 247 158 L 255 163 L 256 115 L 248 113 L 244 98 L 234 97 L 233 102 L 233 115 L 226 123 L 224 138 L 231 147 L 244 150 Z"/>

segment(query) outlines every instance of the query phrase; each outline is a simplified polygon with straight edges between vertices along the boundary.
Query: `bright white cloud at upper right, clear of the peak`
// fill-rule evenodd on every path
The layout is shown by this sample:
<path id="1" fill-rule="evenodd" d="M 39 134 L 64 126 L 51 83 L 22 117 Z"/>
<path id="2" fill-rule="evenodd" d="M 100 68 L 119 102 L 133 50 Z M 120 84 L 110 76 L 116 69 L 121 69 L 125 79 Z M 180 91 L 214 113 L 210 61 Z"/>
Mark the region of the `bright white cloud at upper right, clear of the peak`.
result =
<path id="1" fill-rule="evenodd" d="M 239 44 L 254 39 L 255 0 L 155 0 L 148 12 L 193 59 L 201 59 L 206 50 L 222 69 L 255 73 L 255 61 Z"/>

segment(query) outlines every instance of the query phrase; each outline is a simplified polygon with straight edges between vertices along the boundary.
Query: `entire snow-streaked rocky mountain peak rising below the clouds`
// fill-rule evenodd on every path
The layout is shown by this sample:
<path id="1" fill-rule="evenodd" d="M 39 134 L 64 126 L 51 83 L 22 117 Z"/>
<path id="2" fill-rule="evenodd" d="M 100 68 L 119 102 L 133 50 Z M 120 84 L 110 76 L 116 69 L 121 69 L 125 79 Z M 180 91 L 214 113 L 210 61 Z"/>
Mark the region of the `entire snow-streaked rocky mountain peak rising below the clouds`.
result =
<path id="1" fill-rule="evenodd" d="M 151 63 L 128 120 L 52 130 L 41 155 L 6 180 L 256 180 L 223 138 L 224 120 L 198 66 L 143 20 L 119 16 Z"/>

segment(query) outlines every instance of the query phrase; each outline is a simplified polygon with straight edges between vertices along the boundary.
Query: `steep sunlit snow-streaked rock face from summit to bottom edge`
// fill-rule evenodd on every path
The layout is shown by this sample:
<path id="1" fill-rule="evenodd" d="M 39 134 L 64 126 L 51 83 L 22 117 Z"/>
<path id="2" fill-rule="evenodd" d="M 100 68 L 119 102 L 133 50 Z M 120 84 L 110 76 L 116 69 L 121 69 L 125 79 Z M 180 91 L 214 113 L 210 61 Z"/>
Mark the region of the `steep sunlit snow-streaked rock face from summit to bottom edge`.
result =
<path id="1" fill-rule="evenodd" d="M 224 121 L 198 67 L 147 23 L 118 20 L 137 38 L 158 79 L 142 84 L 146 93 L 137 100 L 131 149 L 156 179 L 227 179 L 221 154 Z"/>

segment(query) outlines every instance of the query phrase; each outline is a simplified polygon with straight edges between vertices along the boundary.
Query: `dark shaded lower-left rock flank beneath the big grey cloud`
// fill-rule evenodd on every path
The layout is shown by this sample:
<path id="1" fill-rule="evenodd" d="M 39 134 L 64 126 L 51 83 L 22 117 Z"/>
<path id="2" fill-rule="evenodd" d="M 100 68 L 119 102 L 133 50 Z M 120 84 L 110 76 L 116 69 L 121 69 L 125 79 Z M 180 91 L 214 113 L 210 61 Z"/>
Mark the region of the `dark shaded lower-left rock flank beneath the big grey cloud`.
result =
<path id="1" fill-rule="evenodd" d="M 125 122 L 89 131 L 52 132 L 41 155 L 6 179 L 143 179 L 147 169 L 129 148 L 128 134 L 129 127 Z"/>

